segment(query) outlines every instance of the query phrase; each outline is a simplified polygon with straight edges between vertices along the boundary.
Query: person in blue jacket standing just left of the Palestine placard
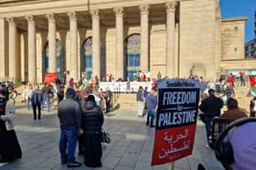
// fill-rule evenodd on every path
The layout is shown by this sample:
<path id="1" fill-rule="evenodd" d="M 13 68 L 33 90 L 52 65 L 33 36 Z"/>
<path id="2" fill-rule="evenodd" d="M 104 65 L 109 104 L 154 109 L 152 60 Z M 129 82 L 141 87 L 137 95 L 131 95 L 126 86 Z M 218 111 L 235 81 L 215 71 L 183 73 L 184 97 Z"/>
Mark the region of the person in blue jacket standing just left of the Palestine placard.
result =
<path id="1" fill-rule="evenodd" d="M 157 104 L 157 99 L 155 96 L 155 90 L 151 90 L 150 94 L 145 98 L 145 106 L 147 109 L 147 118 L 146 118 L 146 125 L 149 125 L 149 118 L 150 120 L 150 127 L 155 127 L 154 125 L 154 118 L 155 118 L 155 108 Z"/>

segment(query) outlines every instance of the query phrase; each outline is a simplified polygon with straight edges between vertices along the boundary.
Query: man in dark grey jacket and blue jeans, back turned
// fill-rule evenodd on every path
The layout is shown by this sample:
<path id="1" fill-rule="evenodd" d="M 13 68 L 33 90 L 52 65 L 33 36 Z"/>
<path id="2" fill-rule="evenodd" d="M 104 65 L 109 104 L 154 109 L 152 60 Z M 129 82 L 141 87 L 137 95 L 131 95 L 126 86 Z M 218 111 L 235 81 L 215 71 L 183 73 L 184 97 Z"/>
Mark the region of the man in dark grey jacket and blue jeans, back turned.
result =
<path id="1" fill-rule="evenodd" d="M 69 88 L 66 91 L 66 99 L 59 102 L 58 117 L 60 122 L 59 152 L 61 163 L 68 163 L 68 167 L 78 167 L 74 156 L 77 147 L 78 132 L 81 124 L 80 105 L 74 101 L 75 90 Z M 68 154 L 67 154 L 67 145 Z"/>

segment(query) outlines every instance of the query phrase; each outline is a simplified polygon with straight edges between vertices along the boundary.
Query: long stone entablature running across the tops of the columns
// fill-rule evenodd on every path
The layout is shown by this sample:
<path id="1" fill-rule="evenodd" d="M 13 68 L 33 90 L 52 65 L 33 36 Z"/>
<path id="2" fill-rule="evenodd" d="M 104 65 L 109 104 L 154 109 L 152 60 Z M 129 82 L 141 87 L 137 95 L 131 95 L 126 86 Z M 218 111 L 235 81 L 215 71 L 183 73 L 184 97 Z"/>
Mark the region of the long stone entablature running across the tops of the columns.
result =
<path id="1" fill-rule="evenodd" d="M 9 4 L 6 3 L 7 1 L 9 1 Z M 102 9 L 110 9 L 119 6 L 155 5 L 178 1 L 187 0 L 90 0 L 90 5 L 88 5 L 88 0 L 13 0 L 13 3 L 10 3 L 11 0 L 5 0 L 5 3 L 2 2 L 2 4 L 0 4 L 0 17 L 37 16 L 46 13 L 58 14 L 72 11 L 89 11 L 89 13 L 91 13 L 93 9 L 99 9 L 101 11 Z"/>

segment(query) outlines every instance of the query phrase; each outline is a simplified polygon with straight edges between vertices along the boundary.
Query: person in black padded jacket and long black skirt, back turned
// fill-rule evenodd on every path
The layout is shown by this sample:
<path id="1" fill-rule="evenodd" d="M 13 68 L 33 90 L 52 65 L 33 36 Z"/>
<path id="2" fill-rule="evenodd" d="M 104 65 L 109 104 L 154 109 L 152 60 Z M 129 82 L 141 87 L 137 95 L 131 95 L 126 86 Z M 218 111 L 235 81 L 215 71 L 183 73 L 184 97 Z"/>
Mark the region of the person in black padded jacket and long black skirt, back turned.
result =
<path id="1" fill-rule="evenodd" d="M 81 101 L 82 129 L 84 131 L 84 164 L 89 167 L 101 167 L 101 126 L 103 112 L 96 105 L 94 96 Z"/>

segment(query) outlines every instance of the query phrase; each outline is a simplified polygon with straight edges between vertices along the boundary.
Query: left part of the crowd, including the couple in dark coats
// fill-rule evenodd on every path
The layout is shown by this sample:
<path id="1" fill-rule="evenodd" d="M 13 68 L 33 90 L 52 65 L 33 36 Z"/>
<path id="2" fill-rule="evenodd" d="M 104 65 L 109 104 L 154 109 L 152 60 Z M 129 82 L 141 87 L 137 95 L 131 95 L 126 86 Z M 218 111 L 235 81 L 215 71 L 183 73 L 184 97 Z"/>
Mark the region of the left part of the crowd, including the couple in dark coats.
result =
<path id="1" fill-rule="evenodd" d="M 57 84 L 56 84 L 57 85 Z M 22 151 L 14 130 L 16 90 L 12 84 L 0 84 L 0 166 L 21 158 Z M 43 86 L 27 84 L 22 96 L 26 100 L 27 110 L 33 109 L 34 121 L 41 120 L 41 111 L 50 112 L 53 104 L 58 109 L 60 123 L 59 152 L 61 164 L 78 167 L 74 153 L 79 141 L 79 154 L 84 156 L 84 164 L 89 167 L 101 167 L 101 126 L 103 112 L 111 112 L 112 91 L 99 90 L 97 76 L 94 80 L 82 78 L 80 82 L 69 80 L 66 85 L 60 83 L 55 89 L 51 83 Z M 58 103 L 53 103 L 57 98 Z M 105 104 L 105 106 L 104 106 Z"/>

